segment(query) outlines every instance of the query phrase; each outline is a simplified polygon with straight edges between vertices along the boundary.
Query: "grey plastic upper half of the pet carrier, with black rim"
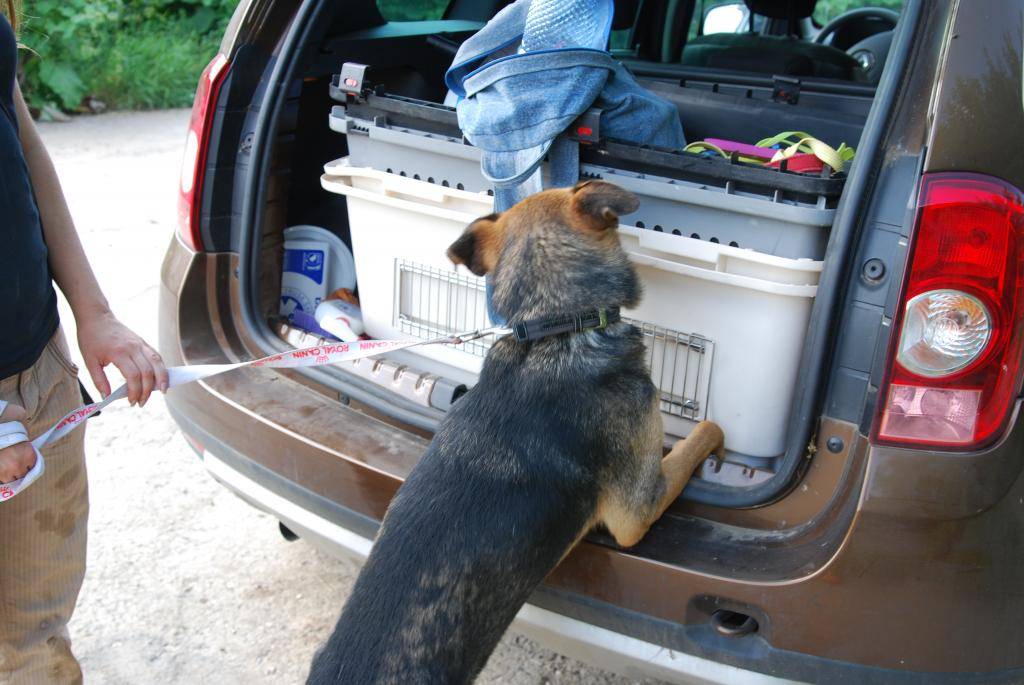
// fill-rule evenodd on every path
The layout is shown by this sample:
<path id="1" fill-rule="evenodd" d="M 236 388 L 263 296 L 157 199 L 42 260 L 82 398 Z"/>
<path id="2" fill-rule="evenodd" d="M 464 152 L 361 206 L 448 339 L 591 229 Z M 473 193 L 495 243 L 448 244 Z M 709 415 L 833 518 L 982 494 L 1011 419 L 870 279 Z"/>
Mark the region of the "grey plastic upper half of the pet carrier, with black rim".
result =
<path id="1" fill-rule="evenodd" d="M 465 190 L 487 190 L 479 149 L 463 141 L 455 112 L 370 95 L 335 106 L 353 167 Z M 640 197 L 624 221 L 781 257 L 821 259 L 842 190 L 840 178 L 809 177 L 693 154 L 601 141 L 581 147 L 581 178 L 603 178 Z"/>

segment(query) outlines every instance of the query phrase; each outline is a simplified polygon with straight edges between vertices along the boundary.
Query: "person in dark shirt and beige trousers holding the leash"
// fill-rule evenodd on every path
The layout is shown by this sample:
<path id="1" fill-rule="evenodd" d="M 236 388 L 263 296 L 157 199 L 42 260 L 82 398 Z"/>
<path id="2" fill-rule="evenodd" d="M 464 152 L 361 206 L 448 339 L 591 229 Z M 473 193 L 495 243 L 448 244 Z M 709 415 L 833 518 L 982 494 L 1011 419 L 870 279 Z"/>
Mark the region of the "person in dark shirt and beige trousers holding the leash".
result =
<path id="1" fill-rule="evenodd" d="M 117 319 L 99 290 L 18 89 L 14 0 L 0 0 L 0 483 L 9 483 L 36 464 L 24 436 L 82 401 L 54 282 L 71 304 L 79 350 L 100 392 L 111 392 L 103 371 L 111 363 L 139 405 L 154 389 L 166 390 L 168 379 L 160 354 Z M 45 471 L 32 487 L 0 501 L 4 684 L 82 682 L 67 627 L 85 575 L 84 431 L 44 454 Z"/>

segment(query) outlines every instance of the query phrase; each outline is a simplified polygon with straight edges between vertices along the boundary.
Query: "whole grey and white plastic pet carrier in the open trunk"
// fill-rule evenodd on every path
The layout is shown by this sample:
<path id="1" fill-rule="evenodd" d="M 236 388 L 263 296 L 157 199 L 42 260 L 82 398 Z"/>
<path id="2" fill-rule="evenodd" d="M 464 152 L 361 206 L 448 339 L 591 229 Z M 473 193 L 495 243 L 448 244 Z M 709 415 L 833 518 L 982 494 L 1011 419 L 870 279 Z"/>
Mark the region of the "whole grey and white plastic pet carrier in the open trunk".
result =
<path id="1" fill-rule="evenodd" d="M 347 200 L 365 325 L 378 338 L 433 338 L 488 325 L 483 280 L 456 269 L 445 250 L 493 210 L 479 151 L 456 112 L 371 87 L 345 65 L 332 86 L 331 128 L 348 157 L 322 185 Z M 581 178 L 640 198 L 620 239 L 643 282 L 624 312 L 645 335 L 666 432 L 722 426 L 726 447 L 771 458 L 784 431 L 817 292 L 842 174 L 785 169 L 608 140 L 600 115 L 571 127 Z M 418 348 L 440 373 L 472 383 L 488 340 Z M 451 373 L 450 373 L 451 372 Z"/>

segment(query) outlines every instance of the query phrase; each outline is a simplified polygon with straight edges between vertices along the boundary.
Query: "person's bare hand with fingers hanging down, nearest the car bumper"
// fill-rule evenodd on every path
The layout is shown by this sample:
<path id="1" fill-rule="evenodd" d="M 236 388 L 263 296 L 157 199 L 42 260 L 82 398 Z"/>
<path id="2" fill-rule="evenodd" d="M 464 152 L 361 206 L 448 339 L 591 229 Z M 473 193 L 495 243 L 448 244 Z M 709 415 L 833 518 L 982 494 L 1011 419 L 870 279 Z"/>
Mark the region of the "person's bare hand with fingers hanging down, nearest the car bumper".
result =
<path id="1" fill-rule="evenodd" d="M 76 317 L 77 318 L 77 317 Z M 92 382 L 103 397 L 111 384 L 103 367 L 113 363 L 128 384 L 128 401 L 145 404 L 154 388 L 167 391 L 167 369 L 160 354 L 112 313 L 78 320 L 78 348 Z"/>

